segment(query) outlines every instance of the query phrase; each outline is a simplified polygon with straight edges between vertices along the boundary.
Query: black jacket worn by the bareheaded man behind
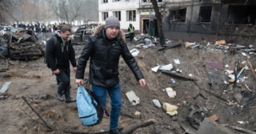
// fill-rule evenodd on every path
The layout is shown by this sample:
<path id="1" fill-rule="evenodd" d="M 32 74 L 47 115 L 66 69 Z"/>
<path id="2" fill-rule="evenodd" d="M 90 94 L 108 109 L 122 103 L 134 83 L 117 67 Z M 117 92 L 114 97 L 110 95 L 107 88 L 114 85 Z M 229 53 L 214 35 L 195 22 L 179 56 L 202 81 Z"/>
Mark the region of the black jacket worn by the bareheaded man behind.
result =
<path id="1" fill-rule="evenodd" d="M 46 61 L 49 68 L 52 71 L 56 69 L 68 69 L 70 68 L 70 62 L 73 67 L 76 67 L 75 50 L 72 46 L 72 40 L 68 39 L 65 46 L 59 34 L 53 35 L 56 37 L 57 42 L 54 44 L 53 37 L 47 41 L 46 45 Z"/>

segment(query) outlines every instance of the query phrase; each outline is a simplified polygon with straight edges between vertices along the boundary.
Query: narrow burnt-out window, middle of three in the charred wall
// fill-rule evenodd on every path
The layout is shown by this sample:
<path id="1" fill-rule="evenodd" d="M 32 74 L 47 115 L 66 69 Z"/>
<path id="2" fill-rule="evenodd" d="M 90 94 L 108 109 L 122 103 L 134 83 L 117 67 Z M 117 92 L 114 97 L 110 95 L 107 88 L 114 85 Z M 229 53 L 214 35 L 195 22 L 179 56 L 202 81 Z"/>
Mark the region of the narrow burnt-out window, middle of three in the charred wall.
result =
<path id="1" fill-rule="evenodd" d="M 211 22 L 211 6 L 200 7 L 199 22 Z"/>

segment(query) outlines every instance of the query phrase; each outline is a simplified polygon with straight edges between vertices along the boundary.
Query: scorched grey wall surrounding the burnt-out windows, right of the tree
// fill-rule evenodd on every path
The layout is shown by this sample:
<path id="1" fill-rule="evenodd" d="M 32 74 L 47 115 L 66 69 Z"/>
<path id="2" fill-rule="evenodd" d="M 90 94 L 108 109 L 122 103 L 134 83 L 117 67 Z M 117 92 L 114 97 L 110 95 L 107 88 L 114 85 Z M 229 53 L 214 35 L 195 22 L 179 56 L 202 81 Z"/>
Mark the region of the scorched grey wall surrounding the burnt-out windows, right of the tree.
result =
<path id="1" fill-rule="evenodd" d="M 189 4 L 187 2 L 177 6 L 186 7 L 186 22 L 170 23 L 169 16 L 165 16 L 166 18 L 163 22 L 165 38 L 176 40 L 183 39 L 184 41 L 202 41 L 202 39 L 216 41 L 219 39 L 226 39 L 228 42 L 255 42 L 256 25 L 227 24 L 229 5 L 244 5 L 244 3 L 211 2 Z M 199 23 L 201 6 L 212 6 L 211 23 Z M 175 8 L 175 6 L 170 8 Z M 238 8 L 238 10 L 240 9 Z"/>

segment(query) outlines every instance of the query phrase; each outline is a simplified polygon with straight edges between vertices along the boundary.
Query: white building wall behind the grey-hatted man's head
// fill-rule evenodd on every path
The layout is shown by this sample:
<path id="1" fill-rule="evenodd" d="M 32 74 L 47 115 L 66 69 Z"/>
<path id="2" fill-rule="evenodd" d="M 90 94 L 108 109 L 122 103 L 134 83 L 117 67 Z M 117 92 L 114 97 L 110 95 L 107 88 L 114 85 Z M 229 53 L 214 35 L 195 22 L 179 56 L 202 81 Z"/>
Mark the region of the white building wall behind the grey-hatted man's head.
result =
<path id="1" fill-rule="evenodd" d="M 112 16 L 114 11 L 121 11 L 121 21 L 120 21 L 120 29 L 127 31 L 129 24 L 133 24 L 135 27 L 135 31 L 139 31 L 140 29 L 140 16 L 136 14 L 136 21 L 129 22 L 127 21 L 127 10 L 136 10 L 139 8 L 139 0 L 135 1 L 117 1 L 113 2 L 112 0 L 108 0 L 108 3 L 102 3 L 102 0 L 98 0 L 98 15 L 99 15 L 99 23 L 105 24 L 105 21 L 102 20 L 102 12 L 108 12 L 108 16 Z"/>

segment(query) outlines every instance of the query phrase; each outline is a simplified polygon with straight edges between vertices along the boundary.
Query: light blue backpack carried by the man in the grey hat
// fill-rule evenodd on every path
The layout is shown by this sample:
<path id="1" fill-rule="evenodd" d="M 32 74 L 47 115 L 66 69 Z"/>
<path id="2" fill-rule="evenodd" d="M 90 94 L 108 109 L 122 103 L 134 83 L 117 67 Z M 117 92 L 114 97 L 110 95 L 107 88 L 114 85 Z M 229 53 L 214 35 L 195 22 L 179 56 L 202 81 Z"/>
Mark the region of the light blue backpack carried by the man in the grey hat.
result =
<path id="1" fill-rule="evenodd" d="M 78 115 L 83 126 L 95 126 L 100 124 L 104 110 L 106 116 L 110 116 L 108 111 L 102 107 L 102 104 L 98 101 L 94 93 L 83 86 L 77 88 L 76 100 Z"/>

